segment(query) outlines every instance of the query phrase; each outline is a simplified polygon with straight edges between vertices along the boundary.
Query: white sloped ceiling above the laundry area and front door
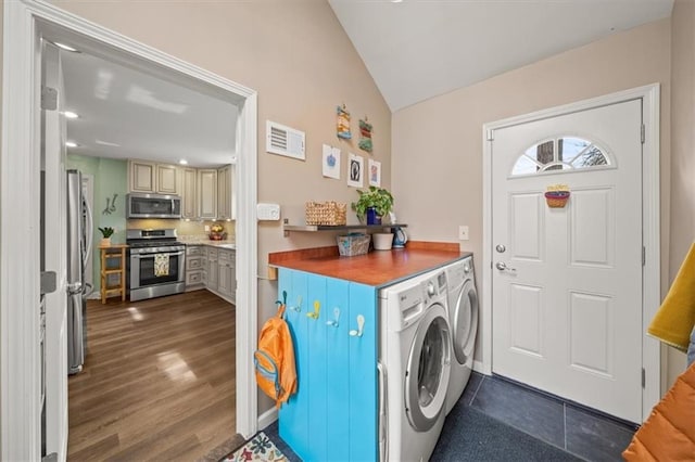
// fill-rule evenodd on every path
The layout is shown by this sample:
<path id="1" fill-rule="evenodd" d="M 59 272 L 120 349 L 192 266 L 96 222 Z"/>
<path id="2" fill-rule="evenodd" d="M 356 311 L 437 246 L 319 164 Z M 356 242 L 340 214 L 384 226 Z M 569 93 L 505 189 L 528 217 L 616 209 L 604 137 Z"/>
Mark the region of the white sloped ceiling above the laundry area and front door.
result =
<path id="1" fill-rule="evenodd" d="M 640 24 L 673 0 L 328 0 L 391 111 Z"/>

